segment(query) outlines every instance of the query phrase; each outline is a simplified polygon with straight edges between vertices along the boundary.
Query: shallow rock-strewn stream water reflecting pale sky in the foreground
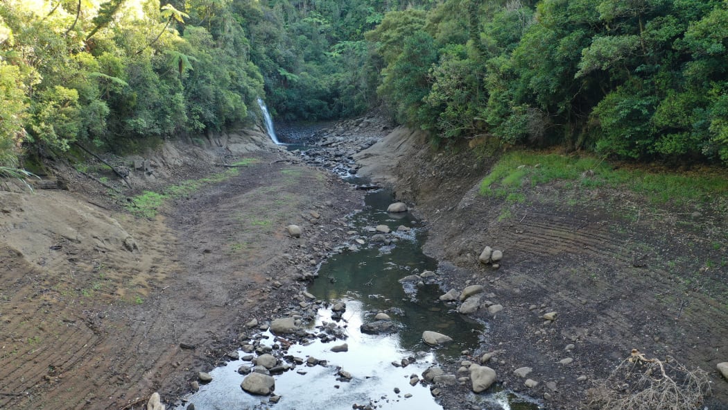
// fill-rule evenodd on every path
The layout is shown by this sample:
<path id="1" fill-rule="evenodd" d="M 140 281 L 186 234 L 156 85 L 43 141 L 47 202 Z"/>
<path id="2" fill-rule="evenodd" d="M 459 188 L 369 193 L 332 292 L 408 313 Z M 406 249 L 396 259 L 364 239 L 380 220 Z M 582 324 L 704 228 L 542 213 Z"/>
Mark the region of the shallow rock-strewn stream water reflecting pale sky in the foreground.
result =
<path id="1" fill-rule="evenodd" d="M 306 358 L 312 356 L 326 360 L 327 366 L 298 365 L 275 376 L 274 393 L 279 403 L 245 393 L 240 388 L 244 376 L 237 368 L 250 364 L 233 360 L 226 366 L 215 368 L 210 374 L 213 382 L 200 387 L 190 395 L 188 403 L 197 410 L 206 409 L 352 409 L 353 405 L 371 404 L 376 409 L 442 409 L 430 394 L 430 387 L 411 386 L 409 379 L 433 363 L 445 358 L 459 358 L 463 350 L 473 350 L 487 335 L 484 323 L 470 320 L 454 312 L 454 307 L 439 301 L 444 293 L 435 283 L 399 283 L 400 278 L 430 270 L 437 272 L 437 261 L 422 253 L 424 232 L 409 213 L 389 214 L 385 210 L 392 202 L 392 193 L 370 192 L 365 209 L 352 217 L 350 230 L 357 250 L 347 248 L 321 264 L 318 279 L 308 291 L 317 299 L 330 303 L 344 301 L 347 310 L 339 326 L 346 327 L 347 339 L 322 343 L 318 339 L 302 346 L 294 344 L 288 355 Z M 389 235 L 391 245 L 373 243 L 369 232 L 373 226 L 386 224 L 395 233 Z M 398 226 L 409 231 L 397 232 Z M 369 228 L 369 229 L 368 229 Z M 359 245 L 355 239 L 365 241 Z M 437 277 L 430 280 L 436 280 Z M 360 325 L 373 320 L 378 311 L 386 311 L 399 326 L 396 334 L 368 335 L 360 332 Z M 330 323 L 331 310 L 320 309 L 314 326 Z M 432 330 L 447 334 L 454 342 L 437 349 L 422 342 L 422 331 Z M 272 346 L 274 336 L 264 344 Z M 346 342 L 348 352 L 331 352 L 331 347 Z M 241 357 L 242 357 L 241 352 Z M 393 361 L 416 358 L 415 363 L 396 367 Z M 339 378 L 339 369 L 352 374 L 350 381 Z M 399 393 L 395 393 L 395 387 Z M 405 398 L 405 395 L 411 397 Z M 534 410 L 538 406 L 512 393 L 471 395 L 470 401 L 485 409 Z M 184 409 L 188 403 L 179 406 Z M 464 406 L 469 406 L 465 405 Z"/>

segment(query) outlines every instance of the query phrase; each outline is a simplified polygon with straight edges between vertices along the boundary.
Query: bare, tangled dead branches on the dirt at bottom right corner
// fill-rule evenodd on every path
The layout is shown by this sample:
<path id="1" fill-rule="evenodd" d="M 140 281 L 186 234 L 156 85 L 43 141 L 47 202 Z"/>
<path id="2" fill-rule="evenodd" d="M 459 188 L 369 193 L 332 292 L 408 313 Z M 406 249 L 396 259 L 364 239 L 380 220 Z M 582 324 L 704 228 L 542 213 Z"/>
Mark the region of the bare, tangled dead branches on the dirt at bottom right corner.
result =
<path id="1" fill-rule="evenodd" d="M 636 349 L 606 379 L 587 391 L 587 409 L 689 410 L 710 395 L 708 373 L 675 358 L 648 359 Z"/>

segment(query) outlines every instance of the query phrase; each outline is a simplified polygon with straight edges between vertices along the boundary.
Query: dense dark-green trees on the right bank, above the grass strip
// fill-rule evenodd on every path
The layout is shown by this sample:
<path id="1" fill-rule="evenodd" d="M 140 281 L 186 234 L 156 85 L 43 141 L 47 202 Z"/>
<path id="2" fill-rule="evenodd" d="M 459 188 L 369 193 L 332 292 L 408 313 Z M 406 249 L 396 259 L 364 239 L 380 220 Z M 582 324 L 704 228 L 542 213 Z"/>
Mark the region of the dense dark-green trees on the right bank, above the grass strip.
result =
<path id="1" fill-rule="evenodd" d="M 435 138 L 728 162 L 727 1 L 448 0 L 368 38 L 381 96 Z"/>

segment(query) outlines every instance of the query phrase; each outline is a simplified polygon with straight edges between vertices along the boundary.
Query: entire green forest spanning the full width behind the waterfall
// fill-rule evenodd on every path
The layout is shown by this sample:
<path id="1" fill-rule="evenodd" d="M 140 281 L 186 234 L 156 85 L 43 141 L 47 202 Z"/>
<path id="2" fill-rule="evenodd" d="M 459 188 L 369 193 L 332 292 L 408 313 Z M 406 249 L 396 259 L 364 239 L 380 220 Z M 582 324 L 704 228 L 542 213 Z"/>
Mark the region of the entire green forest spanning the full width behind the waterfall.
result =
<path id="1" fill-rule="evenodd" d="M 437 141 L 728 162 L 728 1 L 5 0 L 0 166 L 384 106 Z"/>

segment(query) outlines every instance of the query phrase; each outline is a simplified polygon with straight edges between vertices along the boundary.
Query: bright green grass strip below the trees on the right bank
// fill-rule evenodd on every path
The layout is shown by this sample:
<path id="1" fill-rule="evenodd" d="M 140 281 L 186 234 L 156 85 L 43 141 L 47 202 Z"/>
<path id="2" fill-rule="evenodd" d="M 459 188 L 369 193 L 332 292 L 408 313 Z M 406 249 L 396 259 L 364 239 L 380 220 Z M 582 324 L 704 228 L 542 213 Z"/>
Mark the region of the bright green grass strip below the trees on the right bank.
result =
<path id="1" fill-rule="evenodd" d="M 585 178 L 585 173 L 588 177 Z M 592 174 L 593 173 L 593 174 Z M 643 169 L 617 169 L 595 157 L 511 151 L 483 178 L 480 194 L 510 197 L 522 187 L 567 181 L 573 188 L 628 189 L 658 204 L 708 202 L 728 197 L 728 178 L 710 173 L 652 173 Z M 568 182 L 573 181 L 573 182 Z M 513 202 L 513 201 L 512 201 Z"/>

